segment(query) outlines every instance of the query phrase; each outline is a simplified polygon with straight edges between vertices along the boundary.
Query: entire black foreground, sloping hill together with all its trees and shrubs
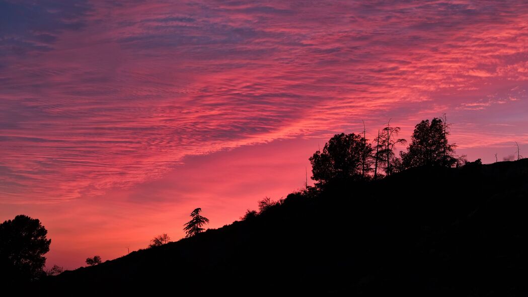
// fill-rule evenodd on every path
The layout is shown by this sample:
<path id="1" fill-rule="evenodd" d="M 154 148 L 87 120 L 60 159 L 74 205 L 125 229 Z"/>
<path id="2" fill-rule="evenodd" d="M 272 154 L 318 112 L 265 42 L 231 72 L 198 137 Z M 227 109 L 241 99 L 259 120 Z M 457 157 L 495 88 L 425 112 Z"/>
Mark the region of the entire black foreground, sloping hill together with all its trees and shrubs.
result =
<path id="1" fill-rule="evenodd" d="M 390 121 L 389 121 L 390 123 Z M 310 158 L 314 187 L 259 201 L 233 224 L 90 267 L 43 270 L 40 221 L 0 224 L 0 281 L 25 295 L 528 294 L 528 160 L 483 165 L 457 156 L 446 117 L 416 125 L 395 154 L 399 127 L 373 141 L 336 134 Z M 27 292 L 26 292 L 27 291 Z M 31 292 L 32 291 L 32 292 Z"/>

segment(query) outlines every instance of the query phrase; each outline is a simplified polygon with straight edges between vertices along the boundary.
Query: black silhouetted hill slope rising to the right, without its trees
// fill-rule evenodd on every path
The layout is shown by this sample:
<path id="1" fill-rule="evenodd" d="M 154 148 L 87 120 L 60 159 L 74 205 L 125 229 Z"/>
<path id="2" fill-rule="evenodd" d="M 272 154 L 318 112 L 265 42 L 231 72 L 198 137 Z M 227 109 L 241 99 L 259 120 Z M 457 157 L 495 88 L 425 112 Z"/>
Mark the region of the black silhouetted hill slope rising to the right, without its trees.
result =
<path id="1" fill-rule="evenodd" d="M 526 295 L 527 199 L 528 159 L 415 168 L 293 193 L 255 218 L 67 271 L 39 289 Z"/>

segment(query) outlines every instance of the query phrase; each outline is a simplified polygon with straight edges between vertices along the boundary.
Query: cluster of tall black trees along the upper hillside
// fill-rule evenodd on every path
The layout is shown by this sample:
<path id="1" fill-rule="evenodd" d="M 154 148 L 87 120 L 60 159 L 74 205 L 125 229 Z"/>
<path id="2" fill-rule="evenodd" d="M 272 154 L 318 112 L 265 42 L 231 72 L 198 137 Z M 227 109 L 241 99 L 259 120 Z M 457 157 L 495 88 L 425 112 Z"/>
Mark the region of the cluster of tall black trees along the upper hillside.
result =
<path id="1" fill-rule="evenodd" d="M 397 146 L 407 143 L 398 138 L 400 127 L 389 123 L 378 132 L 372 143 L 366 139 L 366 132 L 360 134 L 336 134 L 310 157 L 312 179 L 318 187 L 329 181 L 377 180 L 384 175 L 417 166 L 463 165 L 465 156 L 456 156 L 455 144 L 448 142 L 450 124 L 445 119 L 422 120 L 414 128 L 407 152 L 395 153 Z"/>

